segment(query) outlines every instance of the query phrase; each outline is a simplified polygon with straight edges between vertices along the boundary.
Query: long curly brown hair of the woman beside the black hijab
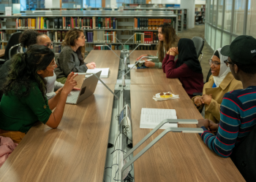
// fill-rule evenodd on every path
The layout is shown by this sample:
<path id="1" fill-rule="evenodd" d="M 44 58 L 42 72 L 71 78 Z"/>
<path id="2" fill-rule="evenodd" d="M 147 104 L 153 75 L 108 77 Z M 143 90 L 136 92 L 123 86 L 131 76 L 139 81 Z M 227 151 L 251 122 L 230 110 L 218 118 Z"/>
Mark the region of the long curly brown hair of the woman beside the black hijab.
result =
<path id="1" fill-rule="evenodd" d="M 162 28 L 162 34 L 165 37 L 165 41 L 159 41 L 157 44 L 158 58 L 160 62 L 162 62 L 165 58 L 165 53 L 163 51 L 164 47 L 165 52 L 167 52 L 171 47 L 177 47 L 178 40 L 180 38 L 176 35 L 175 29 L 169 23 L 159 25 L 159 28 Z"/>

